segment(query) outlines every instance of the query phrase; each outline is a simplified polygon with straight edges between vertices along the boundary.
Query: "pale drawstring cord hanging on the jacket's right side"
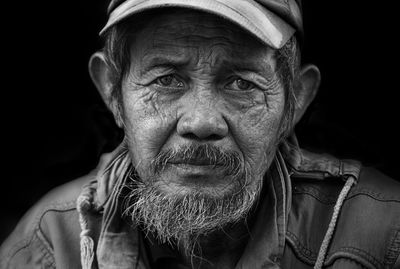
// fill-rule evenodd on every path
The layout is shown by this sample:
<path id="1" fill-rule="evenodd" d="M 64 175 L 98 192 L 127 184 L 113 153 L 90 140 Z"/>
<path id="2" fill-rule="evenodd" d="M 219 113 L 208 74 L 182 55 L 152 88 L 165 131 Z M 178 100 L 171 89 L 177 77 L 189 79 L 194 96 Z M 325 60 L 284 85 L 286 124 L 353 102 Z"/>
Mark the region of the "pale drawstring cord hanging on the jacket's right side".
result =
<path id="1" fill-rule="evenodd" d="M 336 201 L 336 204 L 335 204 L 335 207 L 333 210 L 333 215 L 332 215 L 331 221 L 328 226 L 328 230 L 325 234 L 324 240 L 322 241 L 321 248 L 319 249 L 318 258 L 317 258 L 317 261 L 315 262 L 314 269 L 321 269 L 324 264 L 326 253 L 328 251 L 328 247 L 331 242 L 333 232 L 335 231 L 337 218 L 339 216 L 340 210 L 342 209 L 344 199 L 346 199 L 347 195 L 350 192 L 351 187 L 353 186 L 353 184 L 355 182 L 356 182 L 355 178 L 350 176 L 347 179 L 346 184 L 344 185 L 343 189 L 341 190 L 341 192 L 339 194 L 339 197 Z"/>

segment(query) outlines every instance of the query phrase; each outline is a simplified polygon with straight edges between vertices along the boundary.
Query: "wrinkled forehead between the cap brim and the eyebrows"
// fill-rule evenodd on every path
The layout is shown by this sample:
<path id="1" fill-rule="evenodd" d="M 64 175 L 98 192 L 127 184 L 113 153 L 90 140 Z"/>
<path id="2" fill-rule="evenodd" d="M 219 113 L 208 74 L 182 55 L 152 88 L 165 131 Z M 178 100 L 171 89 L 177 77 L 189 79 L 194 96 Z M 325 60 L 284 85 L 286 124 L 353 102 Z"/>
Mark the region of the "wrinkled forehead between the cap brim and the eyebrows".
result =
<path id="1" fill-rule="evenodd" d="M 239 26 L 193 10 L 153 17 L 135 40 L 131 56 L 144 69 L 167 63 L 197 66 L 201 62 L 209 68 L 225 65 L 233 69 L 261 69 L 270 66 L 275 51 Z"/>

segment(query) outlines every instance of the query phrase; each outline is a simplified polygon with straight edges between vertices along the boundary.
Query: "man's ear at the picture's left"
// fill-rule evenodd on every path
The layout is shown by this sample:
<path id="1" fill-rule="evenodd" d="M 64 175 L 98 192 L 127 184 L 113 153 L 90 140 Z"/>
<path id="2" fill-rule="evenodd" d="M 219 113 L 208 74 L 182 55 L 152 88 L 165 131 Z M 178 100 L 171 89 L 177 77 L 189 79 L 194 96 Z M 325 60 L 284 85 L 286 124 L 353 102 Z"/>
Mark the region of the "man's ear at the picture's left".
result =
<path id="1" fill-rule="evenodd" d="M 105 60 L 104 53 L 96 52 L 89 60 L 90 77 L 97 90 L 99 91 L 104 103 L 113 113 L 114 119 L 119 127 L 122 127 L 121 111 L 118 100 L 112 95 L 113 83 L 111 80 L 111 71 Z"/>

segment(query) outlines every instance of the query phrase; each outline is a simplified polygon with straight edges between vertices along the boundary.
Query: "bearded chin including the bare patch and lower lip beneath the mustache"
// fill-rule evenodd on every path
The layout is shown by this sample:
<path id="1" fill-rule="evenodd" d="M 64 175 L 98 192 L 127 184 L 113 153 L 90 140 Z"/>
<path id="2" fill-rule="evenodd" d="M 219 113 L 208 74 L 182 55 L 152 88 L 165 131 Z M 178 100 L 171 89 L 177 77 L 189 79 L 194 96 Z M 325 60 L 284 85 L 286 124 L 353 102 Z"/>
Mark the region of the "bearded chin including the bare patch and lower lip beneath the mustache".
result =
<path id="1" fill-rule="evenodd" d="M 131 177 L 135 187 L 127 195 L 123 211 L 133 224 L 160 242 L 193 246 L 188 239 L 245 219 L 261 188 L 261 179 L 256 181 L 250 175 L 182 177 L 165 169 L 151 177 Z"/>

